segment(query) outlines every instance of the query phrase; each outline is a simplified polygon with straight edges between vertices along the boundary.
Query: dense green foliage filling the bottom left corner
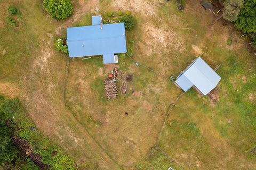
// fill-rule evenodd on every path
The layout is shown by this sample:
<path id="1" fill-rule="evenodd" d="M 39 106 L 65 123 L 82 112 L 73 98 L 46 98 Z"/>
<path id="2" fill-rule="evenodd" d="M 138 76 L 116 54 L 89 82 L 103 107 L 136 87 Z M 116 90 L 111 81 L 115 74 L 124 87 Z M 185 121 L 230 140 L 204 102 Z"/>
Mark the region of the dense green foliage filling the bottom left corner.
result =
<path id="1" fill-rule="evenodd" d="M 22 114 L 17 99 L 0 99 L 0 169 L 37 170 L 31 160 L 15 147 L 12 137 L 27 140 L 35 154 L 51 169 L 77 169 L 75 162 L 36 130 L 35 125 Z M 53 151 L 55 154 L 53 155 Z"/>

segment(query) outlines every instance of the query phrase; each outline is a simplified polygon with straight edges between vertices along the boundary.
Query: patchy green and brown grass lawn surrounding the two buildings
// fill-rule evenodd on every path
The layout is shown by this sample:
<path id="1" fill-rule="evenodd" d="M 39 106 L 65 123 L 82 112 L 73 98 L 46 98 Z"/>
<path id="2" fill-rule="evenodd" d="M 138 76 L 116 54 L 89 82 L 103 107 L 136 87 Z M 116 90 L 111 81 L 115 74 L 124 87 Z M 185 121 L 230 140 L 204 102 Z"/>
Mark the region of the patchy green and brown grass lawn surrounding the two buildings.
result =
<path id="1" fill-rule="evenodd" d="M 199 1 L 187 1 L 184 12 L 160 0 L 73 3 L 73 16 L 60 21 L 41 1 L 0 2 L 0 93 L 18 97 L 52 142 L 82 169 L 256 169 L 256 60 L 240 32 Z M 17 28 L 5 19 L 9 6 L 20 10 Z M 69 60 L 54 41 L 67 27 L 90 25 L 92 15 L 107 20 L 119 10 L 137 19 L 126 31 L 132 58 L 163 77 L 119 56 L 133 80 L 129 94 L 107 100 L 102 57 Z M 222 79 L 208 96 L 190 89 L 175 102 L 182 91 L 169 77 L 196 56 L 219 65 Z"/>

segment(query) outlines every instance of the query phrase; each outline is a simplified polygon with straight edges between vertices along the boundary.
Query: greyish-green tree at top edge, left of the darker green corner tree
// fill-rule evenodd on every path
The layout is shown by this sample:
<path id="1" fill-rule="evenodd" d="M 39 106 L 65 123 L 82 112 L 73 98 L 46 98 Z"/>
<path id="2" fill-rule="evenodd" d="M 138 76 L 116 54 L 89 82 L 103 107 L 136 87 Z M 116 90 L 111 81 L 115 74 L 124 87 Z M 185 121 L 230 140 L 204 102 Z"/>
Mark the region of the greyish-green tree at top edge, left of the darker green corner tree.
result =
<path id="1" fill-rule="evenodd" d="M 244 0 L 226 0 L 223 2 L 223 18 L 227 21 L 234 21 L 238 18 L 240 8 L 243 7 Z"/>

